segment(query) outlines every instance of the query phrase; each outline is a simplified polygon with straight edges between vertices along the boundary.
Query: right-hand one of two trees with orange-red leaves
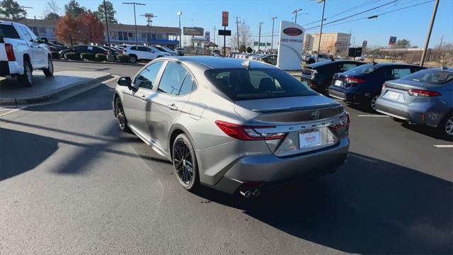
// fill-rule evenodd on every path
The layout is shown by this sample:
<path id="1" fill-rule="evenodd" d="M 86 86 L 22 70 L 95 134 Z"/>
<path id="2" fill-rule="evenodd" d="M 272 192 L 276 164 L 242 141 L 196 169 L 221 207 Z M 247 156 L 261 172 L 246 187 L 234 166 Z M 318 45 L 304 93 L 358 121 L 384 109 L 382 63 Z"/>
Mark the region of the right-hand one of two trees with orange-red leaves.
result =
<path id="1" fill-rule="evenodd" d="M 104 37 L 104 26 L 99 18 L 90 10 L 81 13 L 76 18 L 78 26 L 78 40 L 84 43 L 102 43 Z"/>

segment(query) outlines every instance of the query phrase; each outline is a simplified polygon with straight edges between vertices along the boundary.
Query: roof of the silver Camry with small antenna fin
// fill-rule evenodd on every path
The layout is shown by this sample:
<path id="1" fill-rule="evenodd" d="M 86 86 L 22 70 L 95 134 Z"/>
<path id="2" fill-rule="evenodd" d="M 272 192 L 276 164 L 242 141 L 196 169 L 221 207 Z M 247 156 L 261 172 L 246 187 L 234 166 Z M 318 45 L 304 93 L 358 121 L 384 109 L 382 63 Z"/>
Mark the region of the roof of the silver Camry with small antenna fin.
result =
<path id="1" fill-rule="evenodd" d="M 207 56 L 190 56 L 190 57 L 160 57 L 160 60 L 178 60 L 188 64 L 203 64 L 211 69 L 222 68 L 243 68 L 242 63 L 250 61 L 252 68 L 276 68 L 273 65 L 265 64 L 255 60 L 236 59 L 231 57 L 207 57 Z"/>

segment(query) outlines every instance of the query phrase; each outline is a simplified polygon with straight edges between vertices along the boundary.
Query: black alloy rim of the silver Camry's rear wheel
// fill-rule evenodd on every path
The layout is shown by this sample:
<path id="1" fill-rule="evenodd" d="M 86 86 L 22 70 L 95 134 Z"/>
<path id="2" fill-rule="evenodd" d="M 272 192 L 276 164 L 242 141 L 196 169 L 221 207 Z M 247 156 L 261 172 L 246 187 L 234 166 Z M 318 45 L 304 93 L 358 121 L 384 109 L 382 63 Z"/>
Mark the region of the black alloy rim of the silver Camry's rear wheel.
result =
<path id="1" fill-rule="evenodd" d="M 179 181 L 184 186 L 190 186 L 194 181 L 193 155 L 184 140 L 178 140 L 173 148 L 173 165 Z"/>

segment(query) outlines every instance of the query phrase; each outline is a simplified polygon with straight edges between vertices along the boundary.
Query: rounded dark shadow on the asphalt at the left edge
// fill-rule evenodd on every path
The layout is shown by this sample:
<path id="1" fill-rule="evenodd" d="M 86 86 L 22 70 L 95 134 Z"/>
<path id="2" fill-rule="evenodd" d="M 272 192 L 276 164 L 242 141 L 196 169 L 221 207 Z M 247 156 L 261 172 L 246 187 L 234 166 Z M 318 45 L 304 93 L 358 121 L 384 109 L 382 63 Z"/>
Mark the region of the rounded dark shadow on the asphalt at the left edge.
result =
<path id="1" fill-rule="evenodd" d="M 0 181 L 34 169 L 57 149 L 52 137 L 0 128 Z"/>

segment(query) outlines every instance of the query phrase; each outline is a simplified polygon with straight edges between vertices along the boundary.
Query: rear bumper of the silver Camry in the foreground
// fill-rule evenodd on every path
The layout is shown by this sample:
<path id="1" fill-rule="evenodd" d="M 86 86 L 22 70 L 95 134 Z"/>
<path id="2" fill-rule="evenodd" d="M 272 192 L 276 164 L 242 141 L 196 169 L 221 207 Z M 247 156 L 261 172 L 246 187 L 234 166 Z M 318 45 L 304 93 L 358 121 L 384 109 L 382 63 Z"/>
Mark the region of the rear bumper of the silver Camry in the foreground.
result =
<path id="1" fill-rule="evenodd" d="M 260 186 L 266 187 L 321 176 L 341 166 L 348 152 L 349 139 L 345 137 L 333 147 L 296 157 L 282 158 L 274 154 L 243 157 L 212 188 L 234 193 L 247 182 L 259 182 Z"/>

